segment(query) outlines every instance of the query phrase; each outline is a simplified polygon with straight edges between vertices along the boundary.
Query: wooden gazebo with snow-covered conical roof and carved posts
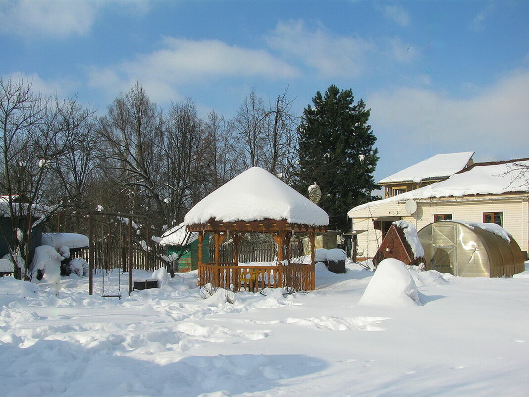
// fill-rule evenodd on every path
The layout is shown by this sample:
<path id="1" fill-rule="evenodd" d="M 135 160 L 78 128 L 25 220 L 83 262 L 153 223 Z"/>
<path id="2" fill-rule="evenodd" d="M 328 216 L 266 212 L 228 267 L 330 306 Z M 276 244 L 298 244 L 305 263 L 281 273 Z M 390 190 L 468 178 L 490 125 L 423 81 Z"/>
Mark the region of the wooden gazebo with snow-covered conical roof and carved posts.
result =
<path id="1" fill-rule="evenodd" d="M 185 216 L 189 231 L 198 232 L 199 284 L 234 291 L 285 287 L 295 291 L 315 288 L 314 236 L 325 232 L 329 215 L 308 198 L 259 167 L 252 167 L 197 203 Z M 204 234 L 213 233 L 214 261 L 203 263 Z M 269 233 L 278 246 L 272 266 L 240 265 L 238 245 L 246 233 Z M 311 242 L 311 264 L 291 263 L 289 242 L 306 233 Z M 233 261 L 221 263 L 220 246 L 233 241 Z"/>

